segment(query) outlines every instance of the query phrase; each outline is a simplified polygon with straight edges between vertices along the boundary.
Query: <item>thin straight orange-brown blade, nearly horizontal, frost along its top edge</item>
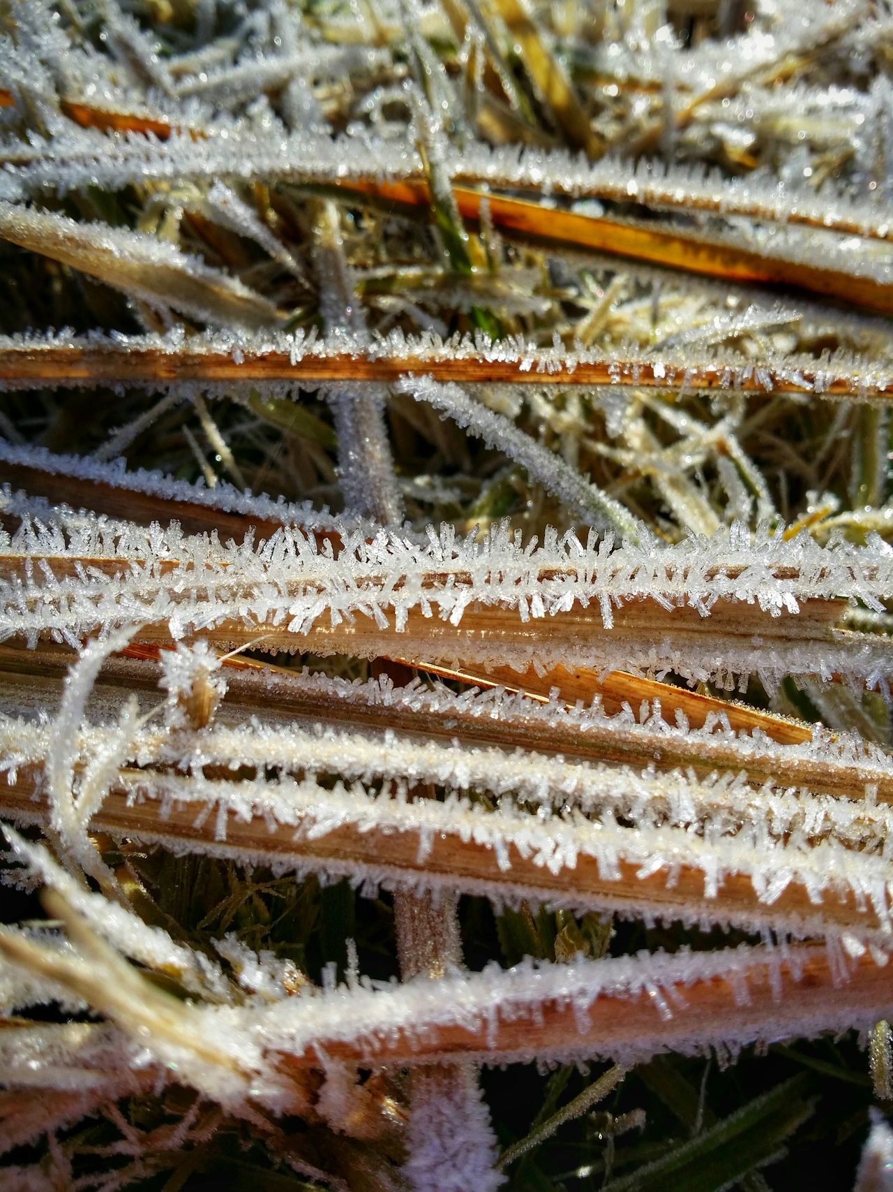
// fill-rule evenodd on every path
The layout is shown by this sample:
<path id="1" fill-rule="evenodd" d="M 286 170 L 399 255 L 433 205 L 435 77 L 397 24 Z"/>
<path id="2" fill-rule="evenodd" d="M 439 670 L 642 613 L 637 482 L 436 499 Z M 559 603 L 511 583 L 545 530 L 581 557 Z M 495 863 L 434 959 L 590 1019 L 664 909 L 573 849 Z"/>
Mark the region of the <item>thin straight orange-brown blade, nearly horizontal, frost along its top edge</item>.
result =
<path id="1" fill-rule="evenodd" d="M 435 334 L 386 337 L 339 335 L 321 340 L 302 331 L 262 335 L 238 331 L 168 336 L 54 336 L 0 340 L 0 386 L 98 384 L 166 387 L 298 386 L 350 380 L 387 384 L 412 375 L 456 384 L 604 386 L 661 389 L 679 393 L 735 390 L 857 401 L 888 401 L 893 370 L 883 361 L 845 352 L 820 356 L 786 355 L 755 364 L 733 352 L 689 353 L 669 347 L 660 354 L 547 348 L 524 340 L 492 342 L 486 336 L 441 339 Z"/>

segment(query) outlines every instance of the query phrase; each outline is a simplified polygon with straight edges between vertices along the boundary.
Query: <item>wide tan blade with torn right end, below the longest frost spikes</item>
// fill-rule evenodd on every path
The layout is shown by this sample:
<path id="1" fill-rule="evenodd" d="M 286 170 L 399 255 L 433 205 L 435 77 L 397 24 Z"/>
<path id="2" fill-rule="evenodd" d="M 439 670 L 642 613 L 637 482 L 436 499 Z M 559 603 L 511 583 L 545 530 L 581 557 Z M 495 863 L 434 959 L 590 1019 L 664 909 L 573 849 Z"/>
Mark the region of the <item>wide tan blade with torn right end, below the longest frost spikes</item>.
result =
<path id="1" fill-rule="evenodd" d="M 300 541 L 307 542 L 304 538 Z M 37 567 L 36 558 L 40 560 Z M 277 600 L 269 611 L 252 613 L 248 609 L 257 579 L 243 583 L 239 591 L 241 581 L 232 561 L 225 555 L 219 559 L 211 555 L 195 566 L 188 559 L 169 554 L 160 565 L 151 566 L 148 557 L 138 553 L 124 559 L 36 550 L 1 554 L 0 583 L 6 589 L 2 628 L 7 635 L 33 637 L 36 627 L 43 623 L 44 633 L 63 632 L 69 640 L 73 634 L 87 637 L 104 623 L 94 595 L 99 583 L 107 602 L 108 623 L 120 620 L 121 613 L 114 611 L 118 602 L 123 611 L 137 598 L 135 607 L 140 608 L 144 623 L 135 638 L 140 641 L 171 640 L 167 617 L 176 614 L 183 619 L 183 626 L 192 626 L 193 632 L 201 627 L 207 640 L 220 647 L 257 641 L 266 651 L 416 657 L 447 664 L 464 658 L 485 668 L 510 665 L 517 671 L 527 670 L 535 657 L 547 668 L 573 658 L 587 669 L 620 670 L 625 665 L 645 673 L 675 669 L 687 678 L 718 679 L 725 685 L 731 685 L 730 676 L 753 671 L 767 681 L 780 673 L 820 672 L 830 677 L 843 672 L 863 676 L 875 687 L 893 676 L 893 659 L 883 641 L 836 627 L 843 604 L 835 600 L 804 596 L 792 610 L 761 607 L 748 596 L 717 594 L 707 617 L 697 601 L 683 600 L 673 607 L 668 603 L 669 592 L 658 590 L 656 597 L 644 596 L 633 585 L 635 602 L 622 603 L 632 591 L 618 591 L 620 607 L 607 615 L 611 595 L 605 595 L 607 606 L 598 589 L 574 603 L 566 585 L 579 582 L 581 573 L 573 566 L 557 570 L 547 566 L 535 581 L 542 595 L 535 589 L 533 600 L 542 601 L 550 589 L 556 589 L 551 600 L 570 607 L 550 611 L 549 638 L 543 644 L 539 625 L 543 613 L 529 619 L 526 597 L 520 598 L 519 607 L 518 597 L 512 601 L 501 585 L 491 591 L 485 583 L 476 595 L 473 576 L 461 565 L 454 564 L 444 572 L 423 570 L 411 578 L 401 576 L 385 583 L 371 571 L 360 581 L 356 595 L 346 597 L 345 613 L 350 611 L 350 619 L 326 622 L 313 609 L 327 590 L 327 563 L 319 567 L 298 565 L 293 577 L 285 582 L 277 569 Z M 273 573 L 268 572 L 270 579 Z M 81 586 L 79 615 L 69 597 L 61 597 L 60 584 L 74 594 L 80 577 L 87 578 Z M 462 586 L 454 586 L 456 582 Z M 398 585 L 395 598 L 393 584 Z M 727 584 L 725 579 L 720 586 Z M 218 590 L 224 594 L 223 600 L 218 598 Z M 593 598 L 599 603 L 591 603 Z M 179 606 L 181 610 L 176 613 Z M 370 606 L 377 607 L 377 611 L 370 611 Z M 431 606 L 439 606 L 438 617 L 431 616 Z M 761 644 L 755 648 L 756 634 Z M 820 664 L 818 658 L 823 659 Z"/>

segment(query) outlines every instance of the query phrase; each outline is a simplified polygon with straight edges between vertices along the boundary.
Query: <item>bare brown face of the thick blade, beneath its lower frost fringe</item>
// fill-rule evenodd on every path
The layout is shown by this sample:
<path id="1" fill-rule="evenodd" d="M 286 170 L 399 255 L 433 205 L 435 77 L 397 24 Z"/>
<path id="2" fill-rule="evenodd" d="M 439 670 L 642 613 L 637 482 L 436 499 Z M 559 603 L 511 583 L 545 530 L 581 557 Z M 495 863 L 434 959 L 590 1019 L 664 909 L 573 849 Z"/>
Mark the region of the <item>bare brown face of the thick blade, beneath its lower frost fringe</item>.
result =
<path id="1" fill-rule="evenodd" d="M 199 817 L 198 805 L 163 805 L 160 800 L 135 803 L 140 778 L 127 771 L 129 782 L 110 790 L 90 820 L 92 832 L 114 838 L 135 837 L 174 851 L 233 857 L 257 864 L 293 865 L 310 871 L 349 876 L 366 870 L 375 880 L 404 889 L 427 888 L 449 893 L 486 894 L 512 901 L 555 902 L 575 909 L 649 914 L 666 919 L 698 919 L 736 924 L 748 930 L 780 932 L 851 932 L 880 943 L 883 926 L 873 906 L 849 890 L 825 890 L 820 904 L 810 898 L 799 880 L 792 880 L 770 905 L 761 899 L 747 874 L 726 874 L 714 895 L 706 892 L 704 871 L 680 859 L 672 869 L 639 876 L 639 863 L 619 859 L 612 876 L 604 876 L 593 856 L 579 856 L 573 869 L 552 870 L 507 846 L 508 865 L 488 844 L 463 839 L 458 833 L 437 833 L 427 853 L 417 831 L 368 830 L 342 824 L 314 827 L 312 837 L 300 827 L 279 825 L 262 814 L 250 819 L 225 817 L 225 839 L 219 838 L 216 814 Z M 40 776 L 20 770 L 14 778 L 0 775 L 0 813 L 23 824 L 44 824 L 49 809 L 39 796 Z"/>

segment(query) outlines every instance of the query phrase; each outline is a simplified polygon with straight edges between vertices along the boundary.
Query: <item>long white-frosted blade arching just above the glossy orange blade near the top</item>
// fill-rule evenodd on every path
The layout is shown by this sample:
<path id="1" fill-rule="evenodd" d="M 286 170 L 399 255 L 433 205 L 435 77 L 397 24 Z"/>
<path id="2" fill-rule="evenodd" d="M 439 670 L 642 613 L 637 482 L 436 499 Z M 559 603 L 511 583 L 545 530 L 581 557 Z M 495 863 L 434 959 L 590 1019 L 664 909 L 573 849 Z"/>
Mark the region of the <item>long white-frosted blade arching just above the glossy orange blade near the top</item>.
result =
<path id="1" fill-rule="evenodd" d="M 282 69 L 282 61 L 279 60 L 277 69 Z M 115 126 L 112 124 L 113 113 L 96 111 L 90 122 L 87 116 L 89 105 L 75 108 L 71 100 L 68 103 L 75 119 L 81 116 L 82 123 L 99 124 L 105 116 L 107 126 Z M 79 136 L 73 130 L 68 136 L 58 136 L 43 145 L 37 141 L 31 149 L 31 166 L 24 168 L 23 163 L 12 172 L 12 178 L 26 193 L 49 187 L 64 192 L 85 185 L 79 169 L 83 172 L 88 163 L 95 162 L 102 172 L 102 181 L 120 186 L 136 180 L 138 163 L 151 160 L 156 170 L 175 173 L 179 179 L 191 178 L 193 181 L 212 181 L 219 176 L 263 176 L 264 180 L 305 182 L 323 182 L 332 178 L 346 182 L 387 180 L 412 184 L 424 180 L 420 163 L 413 159 L 407 161 L 405 156 L 398 160 L 393 145 L 386 141 L 356 138 L 349 142 L 349 149 L 346 145 L 338 147 L 337 142 L 333 149 L 327 138 L 298 132 L 289 138 L 288 149 L 300 151 L 285 151 L 276 157 L 273 149 L 279 145 L 273 137 L 264 143 L 257 132 L 239 135 L 236 130 L 237 154 L 238 150 L 242 153 L 227 157 L 213 125 L 199 119 L 198 128 L 185 135 L 187 130 L 182 114 L 161 119 L 160 116 L 161 112 L 156 113 L 155 120 L 161 130 L 167 130 L 163 131 L 166 139 L 177 125 L 180 135 L 175 135 L 169 144 L 156 147 L 154 153 L 139 141 L 114 143 L 106 139 L 104 143 L 96 137 Z M 130 119 L 136 129 L 140 118 L 150 119 L 142 113 L 121 112 L 118 126 L 125 128 L 124 122 Z M 157 136 L 160 130 L 146 131 Z M 196 132 L 202 142 L 198 151 Z M 226 139 L 232 135 L 233 131 L 227 130 Z M 337 148 L 342 148 L 342 153 L 336 164 Z M 56 155 L 57 162 L 55 178 L 50 167 L 51 154 Z M 60 159 L 62 163 L 68 163 L 67 168 L 60 164 Z M 467 143 L 461 151 L 445 148 L 443 168 L 454 185 L 526 191 L 548 187 L 550 193 L 574 199 L 632 203 L 654 211 L 694 210 L 747 216 L 767 223 L 799 224 L 882 241 L 892 234 L 880 201 L 854 199 L 844 191 L 835 192 L 830 184 L 819 198 L 805 186 L 795 188 L 774 180 L 751 180 L 747 175 L 729 179 L 702 168 L 668 164 L 660 160 L 639 160 L 631 166 L 627 159 L 607 156 L 593 164 L 580 155 L 563 150 L 544 151 L 523 145 L 494 148 L 483 142 Z"/>

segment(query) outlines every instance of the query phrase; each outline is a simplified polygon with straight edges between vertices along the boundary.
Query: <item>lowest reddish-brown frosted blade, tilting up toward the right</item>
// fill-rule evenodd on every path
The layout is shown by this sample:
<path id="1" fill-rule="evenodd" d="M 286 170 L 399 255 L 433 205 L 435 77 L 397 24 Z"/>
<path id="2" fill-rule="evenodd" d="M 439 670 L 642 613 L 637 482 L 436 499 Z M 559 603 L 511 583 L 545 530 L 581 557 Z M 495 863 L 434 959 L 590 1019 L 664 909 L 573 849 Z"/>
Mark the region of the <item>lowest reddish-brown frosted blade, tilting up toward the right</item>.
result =
<path id="1" fill-rule="evenodd" d="M 7 944 L 21 951 L 10 937 L 5 949 Z M 38 963 L 54 967 L 49 957 Z M 56 966 L 57 987 L 65 987 L 67 968 Z M 81 973 L 73 976 L 80 980 Z M 598 968 L 585 961 L 539 969 L 526 964 L 508 973 L 410 982 L 374 998 L 370 991 L 341 989 L 313 1000 L 308 1013 L 287 1004 L 252 1007 L 251 1022 L 225 1010 L 200 1010 L 193 1020 L 195 1048 L 213 1032 L 217 1018 L 229 1018 L 233 1042 L 252 1058 L 260 1044 L 262 1062 L 274 1066 L 280 1086 L 274 1095 L 281 1100 L 285 1093 L 294 1103 L 306 1099 L 312 1088 L 306 1074 L 319 1067 L 336 1079 L 333 1067 L 341 1064 L 396 1068 L 462 1057 L 505 1063 L 533 1055 L 617 1056 L 631 1063 L 667 1049 L 698 1054 L 723 1043 L 739 1048 L 854 1020 L 870 1023 L 891 1007 L 882 963 L 868 954 L 847 962 L 820 945 L 642 955 Z M 463 1007 L 458 1020 L 457 1001 Z M 732 1018 L 737 1025 L 730 1035 Z M 88 1055 L 95 1048 L 95 1031 L 88 1028 L 74 1047 L 61 1049 L 63 1055 L 68 1050 L 73 1068 L 79 1051 Z M 106 1062 L 114 1042 L 107 1041 Z M 119 1056 L 121 1051 L 126 1048 L 118 1043 Z M 192 1055 L 189 1060 L 194 1062 Z M 251 1089 L 261 1105 L 270 1092 L 269 1086 Z M 264 1118 L 250 1104 L 242 1112 L 263 1128 Z"/>

